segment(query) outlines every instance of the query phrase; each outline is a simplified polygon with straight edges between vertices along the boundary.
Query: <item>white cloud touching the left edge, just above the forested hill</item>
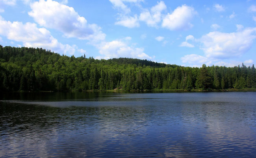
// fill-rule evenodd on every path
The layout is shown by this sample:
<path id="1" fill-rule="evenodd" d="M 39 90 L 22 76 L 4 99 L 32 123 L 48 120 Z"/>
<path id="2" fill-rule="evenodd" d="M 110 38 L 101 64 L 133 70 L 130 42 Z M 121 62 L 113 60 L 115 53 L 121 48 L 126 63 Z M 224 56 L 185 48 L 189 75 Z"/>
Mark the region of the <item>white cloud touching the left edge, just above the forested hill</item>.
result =
<path id="1" fill-rule="evenodd" d="M 10 22 L 0 16 L 0 35 L 9 40 L 23 42 L 25 47 L 45 48 L 58 53 L 74 54 L 76 46 L 61 44 L 45 28 L 37 28 L 35 23 Z"/>

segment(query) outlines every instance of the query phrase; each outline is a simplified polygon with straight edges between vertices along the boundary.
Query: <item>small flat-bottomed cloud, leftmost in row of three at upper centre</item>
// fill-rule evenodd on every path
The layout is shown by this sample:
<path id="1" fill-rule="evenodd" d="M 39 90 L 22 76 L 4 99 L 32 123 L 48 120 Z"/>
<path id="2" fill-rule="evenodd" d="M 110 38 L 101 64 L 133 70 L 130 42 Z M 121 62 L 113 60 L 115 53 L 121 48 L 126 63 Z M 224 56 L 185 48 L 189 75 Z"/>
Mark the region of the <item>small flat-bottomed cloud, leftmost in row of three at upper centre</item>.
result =
<path id="1" fill-rule="evenodd" d="M 136 28 L 139 27 L 138 17 L 134 15 L 134 17 L 122 16 L 121 19 L 115 22 L 116 25 L 121 25 L 127 28 Z"/>

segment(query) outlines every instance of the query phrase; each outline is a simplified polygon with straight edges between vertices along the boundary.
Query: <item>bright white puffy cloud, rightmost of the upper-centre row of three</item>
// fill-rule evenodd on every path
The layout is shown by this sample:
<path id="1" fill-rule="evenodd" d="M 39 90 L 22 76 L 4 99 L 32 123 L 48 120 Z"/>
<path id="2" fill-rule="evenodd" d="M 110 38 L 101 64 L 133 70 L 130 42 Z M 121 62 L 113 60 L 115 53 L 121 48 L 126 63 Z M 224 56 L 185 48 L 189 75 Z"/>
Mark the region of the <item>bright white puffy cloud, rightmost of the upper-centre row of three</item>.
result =
<path id="1" fill-rule="evenodd" d="M 162 27 L 170 30 L 187 30 L 193 27 L 190 23 L 197 12 L 193 7 L 182 5 L 177 7 L 173 13 L 168 13 L 163 18 Z"/>

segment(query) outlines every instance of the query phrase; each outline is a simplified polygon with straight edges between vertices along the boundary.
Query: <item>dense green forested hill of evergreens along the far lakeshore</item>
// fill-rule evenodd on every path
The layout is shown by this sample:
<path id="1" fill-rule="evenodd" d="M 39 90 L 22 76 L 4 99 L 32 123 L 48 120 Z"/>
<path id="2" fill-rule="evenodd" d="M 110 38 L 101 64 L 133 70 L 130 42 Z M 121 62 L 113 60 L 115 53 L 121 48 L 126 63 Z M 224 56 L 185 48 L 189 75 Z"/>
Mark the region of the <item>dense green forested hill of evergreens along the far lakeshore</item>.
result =
<path id="1" fill-rule="evenodd" d="M 68 57 L 0 45 L 1 91 L 256 88 L 254 65 L 191 68 L 147 60 Z"/>

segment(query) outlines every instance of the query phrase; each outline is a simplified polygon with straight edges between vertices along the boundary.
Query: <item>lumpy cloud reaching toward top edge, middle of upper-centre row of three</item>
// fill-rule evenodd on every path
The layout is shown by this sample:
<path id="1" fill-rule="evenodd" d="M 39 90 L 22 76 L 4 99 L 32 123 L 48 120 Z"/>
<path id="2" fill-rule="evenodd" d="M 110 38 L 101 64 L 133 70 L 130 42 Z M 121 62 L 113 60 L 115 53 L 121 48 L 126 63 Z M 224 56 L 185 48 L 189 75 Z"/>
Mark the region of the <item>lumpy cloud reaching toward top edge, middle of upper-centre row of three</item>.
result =
<path id="1" fill-rule="evenodd" d="M 161 21 L 161 12 L 166 9 L 163 1 L 158 2 L 156 6 L 153 6 L 150 11 L 145 9 L 140 16 L 139 20 L 146 22 L 148 26 L 157 27 L 158 22 Z"/>

